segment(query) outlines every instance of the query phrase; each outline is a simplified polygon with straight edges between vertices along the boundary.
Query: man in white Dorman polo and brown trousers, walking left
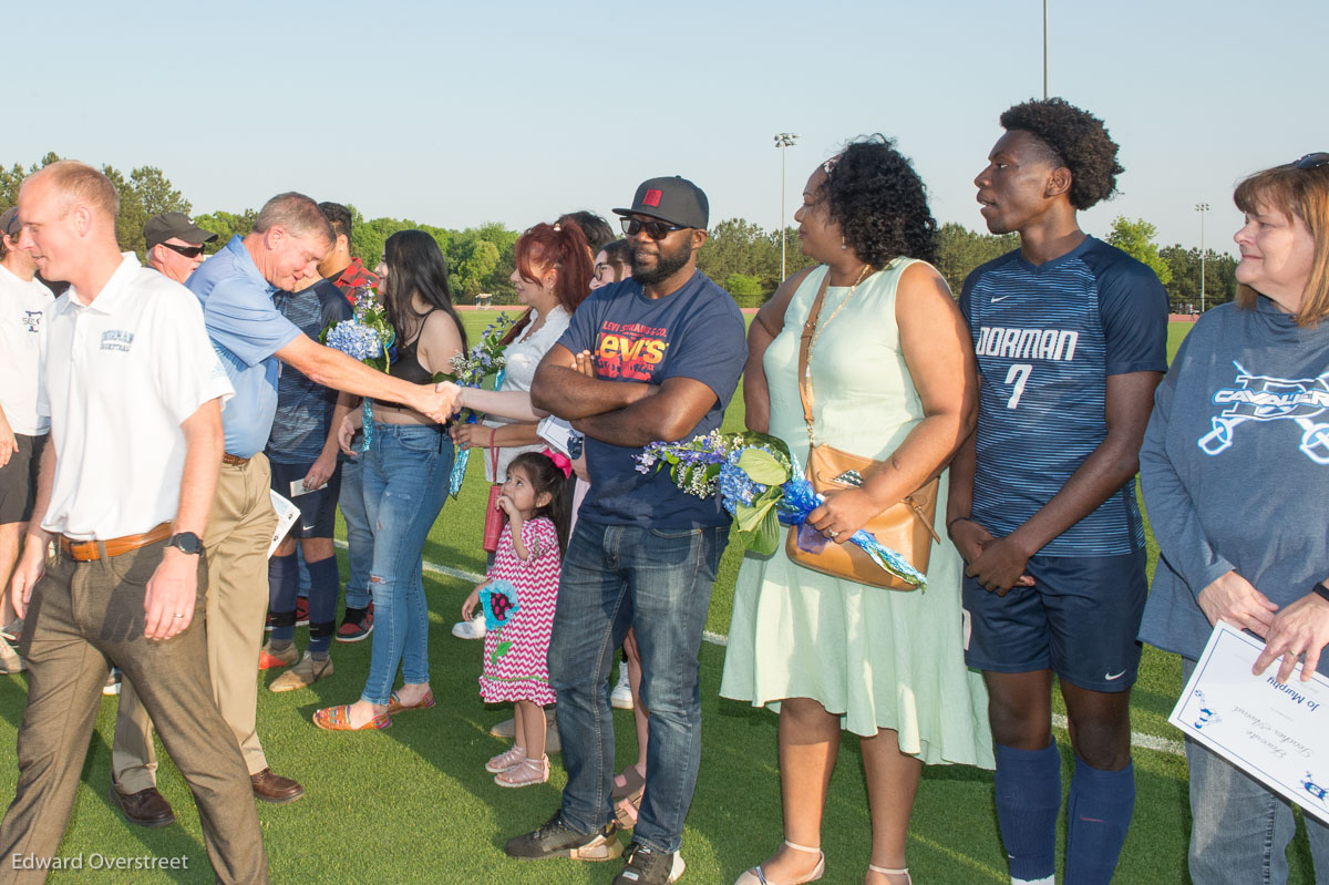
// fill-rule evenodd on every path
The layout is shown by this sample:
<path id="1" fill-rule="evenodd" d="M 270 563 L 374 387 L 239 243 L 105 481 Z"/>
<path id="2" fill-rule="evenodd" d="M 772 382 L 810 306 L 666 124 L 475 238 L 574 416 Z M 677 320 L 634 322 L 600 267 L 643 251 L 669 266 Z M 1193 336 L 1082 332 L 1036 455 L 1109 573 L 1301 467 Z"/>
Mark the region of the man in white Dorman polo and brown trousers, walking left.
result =
<path id="1" fill-rule="evenodd" d="M 112 663 L 194 793 L 217 880 L 267 882 L 249 772 L 213 700 L 202 623 L 199 537 L 233 389 L 198 302 L 120 254 L 117 211 L 106 177 L 74 161 L 33 173 L 19 191 L 19 246 L 43 276 L 70 287 L 41 334 L 39 411 L 51 416 L 51 445 L 40 522 L 28 526 L 11 589 L 27 615 L 31 679 L 0 857 L 35 862 L 0 864 L 0 882 L 45 880 Z"/>

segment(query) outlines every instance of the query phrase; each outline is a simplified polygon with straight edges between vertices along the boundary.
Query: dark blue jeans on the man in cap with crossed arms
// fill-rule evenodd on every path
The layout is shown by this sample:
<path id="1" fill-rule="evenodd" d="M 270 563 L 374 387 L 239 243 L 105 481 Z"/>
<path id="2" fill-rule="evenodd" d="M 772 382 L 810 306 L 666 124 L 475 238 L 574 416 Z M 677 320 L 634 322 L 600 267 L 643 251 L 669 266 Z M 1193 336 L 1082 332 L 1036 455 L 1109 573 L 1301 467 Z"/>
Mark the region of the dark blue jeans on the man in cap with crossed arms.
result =
<path id="1" fill-rule="evenodd" d="M 562 819 L 590 833 L 613 820 L 614 720 L 609 674 L 629 627 L 651 711 L 646 795 L 633 838 L 676 852 L 702 761 L 698 652 L 728 526 L 658 530 L 578 520 L 558 585 L 549 682 L 567 785 Z"/>

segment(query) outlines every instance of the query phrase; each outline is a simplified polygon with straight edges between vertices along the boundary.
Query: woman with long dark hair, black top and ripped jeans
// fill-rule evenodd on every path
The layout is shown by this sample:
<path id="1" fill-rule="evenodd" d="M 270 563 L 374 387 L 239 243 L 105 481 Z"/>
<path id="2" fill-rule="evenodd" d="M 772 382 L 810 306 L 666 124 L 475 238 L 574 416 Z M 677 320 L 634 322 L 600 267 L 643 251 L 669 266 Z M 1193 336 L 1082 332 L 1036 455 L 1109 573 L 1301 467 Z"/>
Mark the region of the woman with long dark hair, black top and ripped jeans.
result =
<path id="1" fill-rule="evenodd" d="M 448 263 L 439 243 L 424 231 L 399 231 L 384 243 L 377 272 L 396 332 L 392 375 L 423 384 L 435 372 L 452 371 L 452 357 L 466 347 L 466 332 L 452 306 Z M 343 449 L 348 450 L 359 415 L 343 421 Z M 373 648 L 360 699 L 314 714 L 314 724 L 331 731 L 385 728 L 395 712 L 433 706 L 421 551 L 448 497 L 452 439 L 420 412 L 379 400 L 369 439 L 364 505 L 373 526 Z M 399 666 L 404 684 L 392 691 Z"/>

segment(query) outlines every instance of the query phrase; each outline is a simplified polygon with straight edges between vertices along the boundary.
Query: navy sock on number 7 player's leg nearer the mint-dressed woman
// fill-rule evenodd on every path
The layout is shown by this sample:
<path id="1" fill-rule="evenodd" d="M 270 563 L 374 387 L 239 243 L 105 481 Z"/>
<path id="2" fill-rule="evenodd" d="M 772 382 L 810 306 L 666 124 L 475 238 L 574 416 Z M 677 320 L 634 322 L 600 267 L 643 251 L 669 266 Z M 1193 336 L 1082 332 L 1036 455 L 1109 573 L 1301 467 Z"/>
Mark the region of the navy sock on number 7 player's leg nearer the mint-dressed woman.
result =
<path id="1" fill-rule="evenodd" d="M 1055 873 L 1057 815 L 1062 808 L 1062 757 L 1057 741 L 1043 749 L 997 744 L 997 823 L 1014 880 Z"/>

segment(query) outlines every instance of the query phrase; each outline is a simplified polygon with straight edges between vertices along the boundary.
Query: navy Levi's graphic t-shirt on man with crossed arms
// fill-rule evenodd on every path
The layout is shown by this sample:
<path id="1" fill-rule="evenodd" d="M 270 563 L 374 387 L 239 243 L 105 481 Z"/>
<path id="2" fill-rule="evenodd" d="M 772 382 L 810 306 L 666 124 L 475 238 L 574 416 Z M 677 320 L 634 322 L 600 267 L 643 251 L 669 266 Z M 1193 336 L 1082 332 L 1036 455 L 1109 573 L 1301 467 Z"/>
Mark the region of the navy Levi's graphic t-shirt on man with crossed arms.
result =
<path id="1" fill-rule="evenodd" d="M 595 290 L 573 314 L 558 343 L 573 353 L 594 353 L 595 375 L 605 380 L 659 385 L 671 377 L 690 377 L 710 387 L 715 403 L 684 440 L 720 427 L 747 360 L 738 304 L 700 271 L 655 300 L 633 279 Z M 590 492 L 578 520 L 651 529 L 728 524 L 719 496 L 702 500 L 686 494 L 674 485 L 667 466 L 638 472 L 634 456 L 641 452 L 586 437 Z"/>

